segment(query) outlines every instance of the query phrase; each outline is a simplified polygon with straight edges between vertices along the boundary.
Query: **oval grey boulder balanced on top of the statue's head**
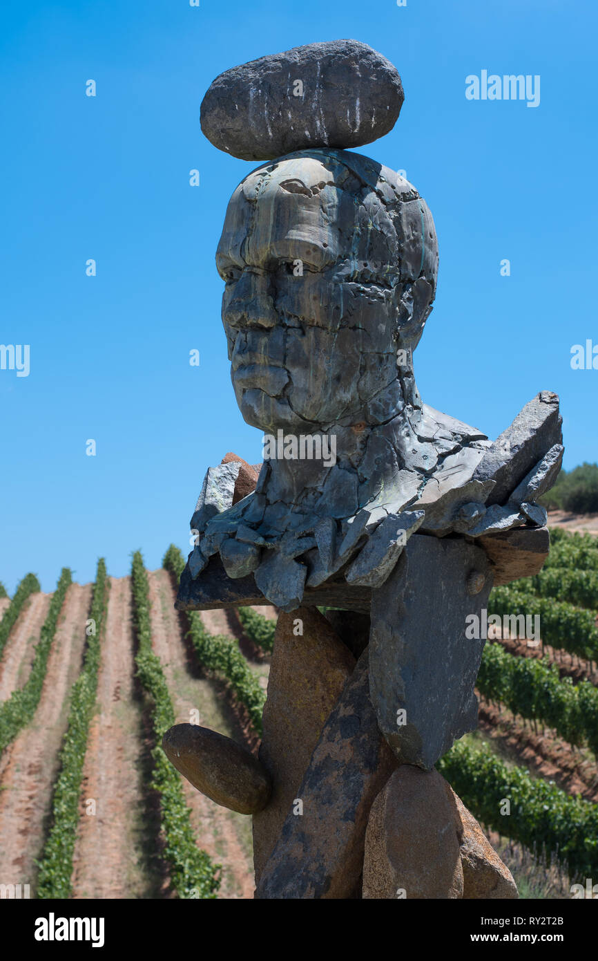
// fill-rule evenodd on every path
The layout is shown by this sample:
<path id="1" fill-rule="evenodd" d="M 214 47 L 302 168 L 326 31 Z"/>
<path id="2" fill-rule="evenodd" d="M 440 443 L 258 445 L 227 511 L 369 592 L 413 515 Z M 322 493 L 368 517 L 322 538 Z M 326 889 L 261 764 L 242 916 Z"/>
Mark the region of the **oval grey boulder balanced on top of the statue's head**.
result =
<path id="1" fill-rule="evenodd" d="M 367 43 L 332 40 L 243 63 L 203 97 L 207 139 L 241 160 L 360 147 L 388 134 L 404 100 L 395 66 Z"/>

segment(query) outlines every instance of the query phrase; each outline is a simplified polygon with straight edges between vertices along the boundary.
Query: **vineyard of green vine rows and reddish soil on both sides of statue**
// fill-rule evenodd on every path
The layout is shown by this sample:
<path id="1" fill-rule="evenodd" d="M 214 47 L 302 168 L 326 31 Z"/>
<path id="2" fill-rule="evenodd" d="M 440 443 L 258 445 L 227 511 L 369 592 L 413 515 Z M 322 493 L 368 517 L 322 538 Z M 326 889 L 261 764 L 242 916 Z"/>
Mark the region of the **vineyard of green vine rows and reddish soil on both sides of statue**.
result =
<path id="1" fill-rule="evenodd" d="M 173 724 L 256 752 L 271 607 L 179 614 L 184 566 L 0 584 L 0 882 L 39 899 L 251 899 L 251 818 L 209 801 L 161 749 Z M 480 730 L 438 767 L 480 823 L 571 883 L 598 874 L 598 541 L 552 531 L 536 577 L 495 588 Z M 541 640 L 510 636 L 539 617 Z M 528 624 L 529 624 L 528 620 Z M 533 621 L 531 622 L 533 623 Z"/>

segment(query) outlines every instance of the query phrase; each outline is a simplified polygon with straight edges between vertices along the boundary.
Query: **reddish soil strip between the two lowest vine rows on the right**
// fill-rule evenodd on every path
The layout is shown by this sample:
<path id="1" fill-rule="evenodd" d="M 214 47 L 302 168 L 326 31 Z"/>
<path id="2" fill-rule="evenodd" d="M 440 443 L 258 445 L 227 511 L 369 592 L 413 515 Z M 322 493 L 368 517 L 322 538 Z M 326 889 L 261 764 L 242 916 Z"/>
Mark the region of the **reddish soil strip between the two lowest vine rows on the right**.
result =
<path id="1" fill-rule="evenodd" d="M 503 704 L 497 708 L 479 693 L 478 698 L 480 730 L 517 764 L 545 780 L 554 780 L 567 794 L 581 794 L 586 801 L 598 802 L 598 770 L 586 753 L 576 752 L 554 730 L 547 728 L 544 734 L 537 734 L 531 727 L 524 727 Z"/>

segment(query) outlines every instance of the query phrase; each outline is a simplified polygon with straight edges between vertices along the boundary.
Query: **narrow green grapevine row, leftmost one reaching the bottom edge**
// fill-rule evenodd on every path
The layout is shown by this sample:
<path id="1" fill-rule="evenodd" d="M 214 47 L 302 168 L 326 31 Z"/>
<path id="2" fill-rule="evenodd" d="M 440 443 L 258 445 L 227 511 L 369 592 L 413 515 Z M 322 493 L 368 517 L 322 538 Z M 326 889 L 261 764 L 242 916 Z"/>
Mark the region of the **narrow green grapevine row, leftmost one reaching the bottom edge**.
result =
<path id="1" fill-rule="evenodd" d="M 93 716 L 100 666 L 100 639 L 106 613 L 108 579 L 104 558 L 98 561 L 87 626 L 82 672 L 71 688 L 66 732 L 60 749 L 60 774 L 54 787 L 54 822 L 39 862 L 38 898 L 70 898 L 73 851 L 80 822 L 80 793 L 89 725 Z"/>

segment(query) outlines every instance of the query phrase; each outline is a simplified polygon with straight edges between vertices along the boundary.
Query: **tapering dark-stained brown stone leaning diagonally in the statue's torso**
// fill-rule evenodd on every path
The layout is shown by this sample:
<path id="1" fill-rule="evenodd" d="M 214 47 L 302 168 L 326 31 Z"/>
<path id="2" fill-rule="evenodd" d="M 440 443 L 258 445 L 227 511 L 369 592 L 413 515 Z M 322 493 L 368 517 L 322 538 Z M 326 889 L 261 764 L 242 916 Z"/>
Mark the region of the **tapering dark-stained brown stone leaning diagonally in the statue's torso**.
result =
<path id="1" fill-rule="evenodd" d="M 260 899 L 355 896 L 371 803 L 395 768 L 376 724 L 363 653 L 330 714 L 257 887 Z"/>

